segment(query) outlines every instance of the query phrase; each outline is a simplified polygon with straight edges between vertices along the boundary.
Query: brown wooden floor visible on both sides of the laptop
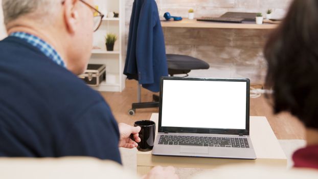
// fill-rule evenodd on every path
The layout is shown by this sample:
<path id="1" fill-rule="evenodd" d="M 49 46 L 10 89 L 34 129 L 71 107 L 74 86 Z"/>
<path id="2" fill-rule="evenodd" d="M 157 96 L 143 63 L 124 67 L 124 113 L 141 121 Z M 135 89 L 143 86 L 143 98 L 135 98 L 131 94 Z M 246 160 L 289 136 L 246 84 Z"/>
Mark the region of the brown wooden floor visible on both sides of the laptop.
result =
<path id="1" fill-rule="evenodd" d="M 122 93 L 102 92 L 102 96 L 112 109 L 112 113 L 118 122 L 133 125 L 134 121 L 149 119 L 152 113 L 158 113 L 158 108 L 137 109 L 134 116 L 128 115 L 131 103 L 137 102 L 137 81 L 127 80 L 126 88 Z M 142 102 L 152 100 L 152 94 L 142 89 Z M 271 107 L 266 99 L 251 98 L 251 116 L 265 116 L 278 139 L 305 139 L 304 127 L 289 114 L 273 115 Z"/>

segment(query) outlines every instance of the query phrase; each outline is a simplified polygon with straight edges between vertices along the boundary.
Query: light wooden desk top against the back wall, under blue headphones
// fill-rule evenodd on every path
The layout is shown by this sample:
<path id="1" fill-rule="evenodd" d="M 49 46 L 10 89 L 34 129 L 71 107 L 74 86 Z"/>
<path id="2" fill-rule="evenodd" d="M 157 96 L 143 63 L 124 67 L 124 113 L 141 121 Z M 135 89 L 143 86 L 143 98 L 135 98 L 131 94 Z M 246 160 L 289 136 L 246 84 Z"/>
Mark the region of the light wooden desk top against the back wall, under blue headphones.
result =
<path id="1" fill-rule="evenodd" d="M 262 24 L 258 25 L 255 22 L 246 23 L 217 23 L 197 21 L 196 19 L 190 20 L 184 18 L 180 21 L 164 20 L 161 21 L 162 27 L 182 27 L 182 28 L 220 28 L 220 29 L 274 29 L 278 25 L 276 24 Z"/>

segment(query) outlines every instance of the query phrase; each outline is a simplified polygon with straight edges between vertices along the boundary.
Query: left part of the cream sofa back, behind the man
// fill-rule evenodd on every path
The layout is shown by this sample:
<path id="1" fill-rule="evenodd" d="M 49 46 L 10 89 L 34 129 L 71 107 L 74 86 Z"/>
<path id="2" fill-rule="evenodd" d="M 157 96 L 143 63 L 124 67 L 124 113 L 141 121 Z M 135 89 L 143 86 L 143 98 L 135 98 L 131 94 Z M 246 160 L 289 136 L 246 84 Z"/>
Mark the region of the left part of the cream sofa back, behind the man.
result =
<path id="1" fill-rule="evenodd" d="M 90 157 L 0 158 L 0 178 L 138 178 L 112 161 Z"/>

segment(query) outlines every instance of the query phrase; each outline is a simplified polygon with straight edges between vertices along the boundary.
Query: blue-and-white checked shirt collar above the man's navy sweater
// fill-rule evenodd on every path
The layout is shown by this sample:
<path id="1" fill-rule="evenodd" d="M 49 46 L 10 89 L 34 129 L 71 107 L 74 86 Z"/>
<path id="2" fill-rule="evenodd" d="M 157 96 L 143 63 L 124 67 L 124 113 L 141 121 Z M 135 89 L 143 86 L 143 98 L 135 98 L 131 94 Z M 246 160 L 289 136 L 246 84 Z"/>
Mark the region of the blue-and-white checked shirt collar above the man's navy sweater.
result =
<path id="1" fill-rule="evenodd" d="M 55 63 L 66 68 L 66 65 L 64 61 L 62 60 L 61 56 L 52 48 L 52 46 L 50 46 L 47 42 L 43 41 L 42 39 L 25 32 L 14 32 L 10 34 L 9 36 L 18 37 L 18 38 L 21 38 L 22 40 L 27 41 L 32 46 L 39 49 L 44 55 L 49 57 Z"/>

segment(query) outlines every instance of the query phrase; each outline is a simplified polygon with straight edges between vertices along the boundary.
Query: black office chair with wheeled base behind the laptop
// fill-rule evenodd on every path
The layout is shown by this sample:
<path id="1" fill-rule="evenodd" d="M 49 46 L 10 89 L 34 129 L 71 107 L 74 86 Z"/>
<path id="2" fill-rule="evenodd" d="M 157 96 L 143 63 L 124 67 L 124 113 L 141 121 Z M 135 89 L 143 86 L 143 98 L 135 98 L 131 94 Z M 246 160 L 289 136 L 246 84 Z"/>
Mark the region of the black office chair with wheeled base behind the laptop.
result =
<path id="1" fill-rule="evenodd" d="M 170 76 L 177 74 L 185 74 L 186 76 L 189 76 L 188 73 L 191 70 L 203 70 L 210 68 L 210 65 L 207 62 L 187 55 L 167 54 L 167 63 L 168 74 Z M 159 107 L 159 97 L 157 95 L 152 95 L 152 102 L 141 102 L 140 84 L 138 84 L 137 93 L 138 103 L 132 103 L 131 109 L 128 110 L 129 115 L 134 115 L 136 109 Z"/>

